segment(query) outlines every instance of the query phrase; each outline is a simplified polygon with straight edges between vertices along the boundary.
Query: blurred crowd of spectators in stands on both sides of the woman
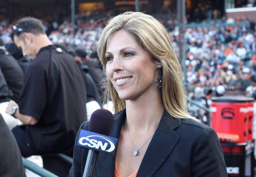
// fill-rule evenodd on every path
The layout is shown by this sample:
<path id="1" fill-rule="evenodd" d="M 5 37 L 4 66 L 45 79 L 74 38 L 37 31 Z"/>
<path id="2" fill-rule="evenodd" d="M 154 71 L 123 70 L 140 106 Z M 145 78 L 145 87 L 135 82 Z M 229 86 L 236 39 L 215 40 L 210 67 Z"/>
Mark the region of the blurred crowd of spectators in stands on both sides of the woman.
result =
<path id="1" fill-rule="evenodd" d="M 87 18 L 88 19 L 88 18 Z M 65 43 L 68 48 L 85 49 L 88 56 L 94 53 L 102 29 L 108 19 L 78 19 L 75 28 L 69 21 L 58 24 L 56 21 L 44 23 L 51 29 L 49 38 L 54 43 Z M 177 42 L 179 28 L 175 18 L 161 20 L 173 39 L 176 52 L 179 53 Z M 250 30 L 238 22 L 246 21 L 246 17 L 237 17 L 235 25 L 227 24 L 210 28 L 187 28 L 186 66 L 187 85 L 199 87 L 216 87 L 223 85 L 227 90 L 242 90 L 254 81 L 256 69 L 256 26 Z M 223 17 L 220 23 L 226 23 Z M 73 31 L 74 30 L 74 31 Z M 1 37 L 5 43 L 11 42 L 12 25 L 0 22 Z"/>

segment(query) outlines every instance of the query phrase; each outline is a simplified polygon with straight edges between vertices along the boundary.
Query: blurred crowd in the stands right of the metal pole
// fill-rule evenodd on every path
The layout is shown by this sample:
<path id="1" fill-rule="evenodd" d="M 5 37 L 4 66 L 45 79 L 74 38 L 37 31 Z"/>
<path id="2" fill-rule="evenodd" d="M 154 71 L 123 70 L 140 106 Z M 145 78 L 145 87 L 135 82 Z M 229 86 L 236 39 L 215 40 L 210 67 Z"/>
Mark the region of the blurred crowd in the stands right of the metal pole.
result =
<path id="1" fill-rule="evenodd" d="M 185 34 L 188 85 L 223 85 L 227 90 L 245 91 L 255 76 L 255 30 L 256 26 L 251 32 L 245 25 L 188 28 Z"/>

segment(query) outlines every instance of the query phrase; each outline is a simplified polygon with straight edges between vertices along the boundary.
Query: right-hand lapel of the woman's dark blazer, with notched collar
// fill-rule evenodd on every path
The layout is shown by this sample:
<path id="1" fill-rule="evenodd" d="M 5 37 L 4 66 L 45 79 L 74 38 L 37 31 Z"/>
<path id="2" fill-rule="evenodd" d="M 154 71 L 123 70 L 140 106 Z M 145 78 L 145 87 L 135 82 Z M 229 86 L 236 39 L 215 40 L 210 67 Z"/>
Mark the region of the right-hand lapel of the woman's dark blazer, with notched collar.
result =
<path id="1" fill-rule="evenodd" d="M 179 135 L 173 129 L 180 124 L 180 119 L 170 118 L 164 111 L 155 135 L 143 157 L 137 177 L 151 177 L 159 169 L 179 140 Z"/>

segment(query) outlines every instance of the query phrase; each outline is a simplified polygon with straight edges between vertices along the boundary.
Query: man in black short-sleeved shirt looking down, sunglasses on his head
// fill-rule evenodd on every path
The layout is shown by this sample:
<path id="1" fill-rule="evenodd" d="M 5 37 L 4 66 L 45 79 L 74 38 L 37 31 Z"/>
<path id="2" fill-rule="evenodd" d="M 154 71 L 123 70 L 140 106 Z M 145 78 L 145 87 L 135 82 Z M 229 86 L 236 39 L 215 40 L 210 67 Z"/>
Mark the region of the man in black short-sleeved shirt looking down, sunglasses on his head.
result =
<path id="1" fill-rule="evenodd" d="M 24 124 L 12 129 L 21 154 L 72 155 L 76 133 L 86 121 L 82 73 L 71 55 L 52 45 L 40 20 L 23 18 L 13 30 L 16 46 L 33 59 L 26 70 L 18 104 L 10 101 L 6 108 Z M 44 167 L 49 165 L 44 157 L 43 163 Z M 50 167 L 56 170 L 56 165 Z M 54 173 L 65 176 L 64 171 Z"/>

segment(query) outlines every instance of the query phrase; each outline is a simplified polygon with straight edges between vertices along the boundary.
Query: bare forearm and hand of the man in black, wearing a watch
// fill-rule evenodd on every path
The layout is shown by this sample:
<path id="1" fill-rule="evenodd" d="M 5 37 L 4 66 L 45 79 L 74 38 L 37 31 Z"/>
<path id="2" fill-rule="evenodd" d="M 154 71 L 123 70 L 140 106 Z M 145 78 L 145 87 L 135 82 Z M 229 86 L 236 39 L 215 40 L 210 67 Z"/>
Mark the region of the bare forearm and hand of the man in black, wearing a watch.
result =
<path id="1" fill-rule="evenodd" d="M 6 111 L 5 112 L 11 115 L 11 110 L 15 106 L 18 106 L 18 104 L 15 103 L 15 101 L 11 100 L 8 103 L 8 106 L 6 107 Z M 38 122 L 38 120 L 33 118 L 32 116 L 28 116 L 28 115 L 19 113 L 19 109 L 17 109 L 17 111 L 15 112 L 14 116 L 15 116 L 15 118 L 17 118 L 20 121 L 22 121 L 22 123 L 24 125 L 34 125 L 34 124 L 36 124 Z"/>

